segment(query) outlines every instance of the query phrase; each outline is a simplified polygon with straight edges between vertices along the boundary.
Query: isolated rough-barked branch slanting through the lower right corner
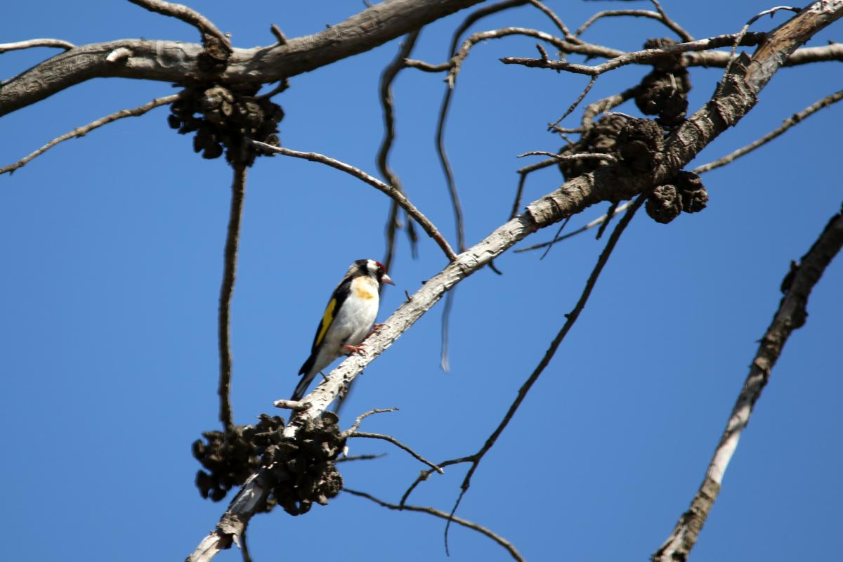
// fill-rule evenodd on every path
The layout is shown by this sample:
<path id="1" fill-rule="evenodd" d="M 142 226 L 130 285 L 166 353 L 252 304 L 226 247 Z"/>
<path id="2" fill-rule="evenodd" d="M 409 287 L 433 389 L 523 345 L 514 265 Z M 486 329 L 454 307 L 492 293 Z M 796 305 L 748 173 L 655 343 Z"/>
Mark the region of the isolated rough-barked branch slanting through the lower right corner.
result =
<path id="1" fill-rule="evenodd" d="M 744 387 L 738 394 L 732 414 L 729 415 L 726 429 L 717 444 L 717 449 L 711 458 L 700 489 L 691 501 L 688 511 L 679 517 L 674 530 L 668 539 L 654 554 L 655 562 L 672 562 L 685 560 L 694 548 L 697 535 L 700 533 L 706 518 L 711 511 L 714 501 L 719 495 L 723 474 L 738 447 L 741 433 L 749 423 L 749 416 L 755 402 L 770 380 L 773 367 L 776 366 L 781 350 L 787 343 L 794 329 L 801 328 L 808 318 L 808 297 L 813 286 L 823 275 L 825 268 L 831 263 L 835 255 L 843 246 L 843 211 L 838 212 L 826 224 L 819 238 L 813 243 L 808 253 L 803 255 L 800 264 L 792 262 L 791 270 L 781 283 L 784 297 L 779 302 L 779 308 L 770 327 L 767 328 L 754 360 L 749 366 L 749 375 Z"/>

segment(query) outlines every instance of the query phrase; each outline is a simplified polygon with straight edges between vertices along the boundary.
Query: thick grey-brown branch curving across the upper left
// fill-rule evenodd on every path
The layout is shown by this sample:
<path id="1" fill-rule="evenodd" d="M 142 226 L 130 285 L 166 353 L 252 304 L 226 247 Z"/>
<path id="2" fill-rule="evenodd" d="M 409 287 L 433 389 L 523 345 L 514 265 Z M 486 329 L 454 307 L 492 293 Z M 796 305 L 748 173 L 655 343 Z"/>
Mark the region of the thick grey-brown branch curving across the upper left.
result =
<path id="1" fill-rule="evenodd" d="M 314 35 L 284 45 L 234 49 L 212 78 L 222 83 L 278 82 L 383 45 L 481 0 L 387 0 Z M 119 63 L 106 57 L 127 49 Z M 191 83 L 209 78 L 200 67 L 202 45 L 165 40 L 116 40 L 82 45 L 3 83 L 0 115 L 19 110 L 91 78 L 141 78 Z"/>

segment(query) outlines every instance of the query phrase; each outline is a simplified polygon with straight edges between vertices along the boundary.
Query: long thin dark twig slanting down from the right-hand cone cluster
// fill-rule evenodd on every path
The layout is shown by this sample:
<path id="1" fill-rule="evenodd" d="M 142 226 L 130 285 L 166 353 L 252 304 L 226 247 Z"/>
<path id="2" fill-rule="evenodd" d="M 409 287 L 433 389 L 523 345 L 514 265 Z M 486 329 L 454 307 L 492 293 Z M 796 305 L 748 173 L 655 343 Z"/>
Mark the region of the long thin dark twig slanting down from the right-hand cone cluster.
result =
<path id="1" fill-rule="evenodd" d="M 468 472 L 465 474 L 463 479 L 463 483 L 460 484 L 459 488 L 459 496 L 457 500 L 454 502 L 454 508 L 451 510 L 451 516 L 454 516 L 454 513 L 457 511 L 457 507 L 459 507 L 459 502 L 463 499 L 465 493 L 469 490 L 469 486 L 471 484 L 471 477 L 474 475 L 475 470 L 480 465 L 481 460 L 486 455 L 486 452 L 489 452 L 491 447 L 495 445 L 497 442 L 497 438 L 501 436 L 504 429 L 506 429 L 509 422 L 513 419 L 515 412 L 518 411 L 518 407 L 524 401 L 524 398 L 529 393 L 529 389 L 533 387 L 533 384 L 539 379 L 542 372 L 544 372 L 545 367 L 550 364 L 550 360 L 553 359 L 553 356 L 556 354 L 556 350 L 559 348 L 562 340 L 565 339 L 565 336 L 568 334 L 568 331 L 572 328 L 573 324 L 577 322 L 577 318 L 579 318 L 580 313 L 583 312 L 583 308 L 585 308 L 586 302 L 588 302 L 588 297 L 591 296 L 591 292 L 593 291 L 594 285 L 597 283 L 597 280 L 602 273 L 606 262 L 609 260 L 609 256 L 612 254 L 612 250 L 615 249 L 615 244 L 617 244 L 618 240 L 620 239 L 620 235 L 624 233 L 626 227 L 632 220 L 632 217 L 635 216 L 636 211 L 642 206 L 644 201 L 647 199 L 647 195 L 649 195 L 650 190 L 645 190 L 642 195 L 638 195 L 635 202 L 630 206 L 629 210 L 626 211 L 626 214 L 621 217 L 620 221 L 617 225 L 615 225 L 615 229 L 612 231 L 611 236 L 609 236 L 609 240 L 606 242 L 606 246 L 603 249 L 603 252 L 600 253 L 600 256 L 597 260 L 597 265 L 594 265 L 594 269 L 591 272 L 591 275 L 588 276 L 588 281 L 586 281 L 585 288 L 583 289 L 583 294 L 579 297 L 577 304 L 574 306 L 573 310 L 570 313 L 566 314 L 566 322 L 565 325 L 562 326 L 562 329 L 559 330 L 559 333 L 556 334 L 556 337 L 550 342 L 550 347 L 545 351 L 545 355 L 539 361 L 539 365 L 535 367 L 533 372 L 524 381 L 524 384 L 521 385 L 521 388 L 518 388 L 518 396 L 513 401 L 513 404 L 509 406 L 506 415 L 503 416 L 503 420 L 497 426 L 495 431 L 491 432 L 491 435 L 486 439 L 486 442 L 483 444 L 483 447 L 473 455 L 473 459 L 471 461 L 471 467 L 469 468 Z M 448 525 L 445 526 L 445 549 L 448 549 L 448 526 L 450 521 L 448 521 Z"/>

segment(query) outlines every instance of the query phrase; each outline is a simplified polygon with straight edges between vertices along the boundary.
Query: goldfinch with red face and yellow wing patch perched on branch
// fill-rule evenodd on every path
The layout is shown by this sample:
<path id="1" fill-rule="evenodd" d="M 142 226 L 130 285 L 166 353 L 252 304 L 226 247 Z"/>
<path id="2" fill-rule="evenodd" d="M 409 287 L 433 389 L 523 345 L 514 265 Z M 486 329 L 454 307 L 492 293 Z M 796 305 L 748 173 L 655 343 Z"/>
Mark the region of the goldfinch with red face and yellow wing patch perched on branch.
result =
<path id="1" fill-rule="evenodd" d="M 316 373 L 337 357 L 361 351 L 360 344 L 378 315 L 379 291 L 384 283 L 395 285 L 378 261 L 357 260 L 348 268 L 325 307 L 310 356 L 298 371 L 302 380 L 291 400 L 301 400 Z"/>

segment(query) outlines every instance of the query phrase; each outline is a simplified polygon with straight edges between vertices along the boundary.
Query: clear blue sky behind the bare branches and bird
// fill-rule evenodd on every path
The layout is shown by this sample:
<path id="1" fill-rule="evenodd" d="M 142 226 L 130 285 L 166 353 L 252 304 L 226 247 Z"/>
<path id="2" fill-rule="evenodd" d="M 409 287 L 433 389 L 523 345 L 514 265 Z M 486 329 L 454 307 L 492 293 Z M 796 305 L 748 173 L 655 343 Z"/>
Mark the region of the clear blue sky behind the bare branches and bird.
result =
<path id="1" fill-rule="evenodd" d="M 737 31 L 761 0 L 664 7 L 697 37 Z M 306 35 L 363 8 L 360 2 L 194 2 L 234 45 L 272 42 L 271 23 Z M 623 3 L 551 2 L 577 27 Z M 648 8 L 640 3 L 636 7 Z M 414 56 L 441 62 L 459 13 L 424 29 Z M 762 19 L 770 29 L 787 14 Z M 194 29 L 127 2 L 8 3 L 0 42 L 58 37 L 77 44 L 146 37 L 196 41 Z M 534 8 L 486 19 L 553 30 Z M 841 24 L 813 45 L 840 40 Z M 667 35 L 650 20 L 604 21 L 586 37 L 635 49 Z M 447 146 L 463 198 L 469 244 L 512 204 L 515 157 L 556 150 L 545 132 L 587 83 L 584 77 L 504 67 L 534 56 L 534 40 L 479 45 L 459 75 Z M 382 136 L 378 78 L 394 56 L 379 49 L 298 76 L 277 100 L 285 146 L 328 154 L 376 173 Z M 0 56 L 0 78 L 54 51 Z M 744 145 L 841 88 L 839 64 L 785 69 L 737 129 L 696 163 Z M 600 78 L 588 100 L 634 83 L 647 68 Z M 691 108 L 719 70 L 694 69 Z M 408 70 L 395 84 L 398 141 L 392 164 L 412 201 L 454 240 L 433 151 L 441 76 Z M 102 115 L 173 93 L 167 83 L 97 79 L 0 120 L 0 164 Z M 632 105 L 620 109 L 636 113 Z M 217 429 L 217 294 L 230 170 L 205 161 L 191 138 L 166 126 L 167 110 L 121 120 L 54 148 L 0 178 L 0 350 L 5 428 L 0 558 L 183 559 L 225 502 L 193 485 L 191 442 Z M 475 474 L 458 515 L 490 527 L 530 560 L 646 559 L 663 542 L 704 474 L 798 259 L 840 206 L 839 124 L 824 110 L 758 153 L 706 174 L 711 201 L 668 226 L 642 213 L 622 238 L 592 301 L 513 423 Z M 574 121 L 567 121 L 573 123 Z M 534 174 L 525 201 L 561 183 Z M 380 259 L 389 203 L 316 163 L 261 158 L 250 171 L 233 306 L 233 406 L 239 424 L 287 398 L 319 314 L 346 266 Z M 573 223 L 605 211 L 590 209 Z M 549 238 L 544 232 L 529 243 Z M 368 367 L 343 426 L 375 407 L 398 406 L 363 429 L 390 433 L 432 460 L 474 452 L 564 322 L 602 248 L 574 238 L 538 260 L 509 253 L 504 276 L 484 270 L 459 286 L 451 372 L 438 368 L 441 305 Z M 412 260 L 400 238 L 381 306 L 386 318 L 444 265 L 421 238 Z M 808 324 L 788 342 L 728 469 L 695 560 L 825 558 L 839 533 L 840 335 L 843 262 L 813 292 Z M 349 487 L 397 501 L 421 466 L 380 442 L 352 453 L 385 458 L 341 465 Z M 448 510 L 464 468 L 430 479 L 412 503 Z M 344 559 L 445 559 L 443 522 L 385 511 L 341 495 L 304 517 L 255 517 L 255 560 L 310 549 Z M 325 539 L 330 537 L 330 546 Z M 219 560 L 239 560 L 229 551 Z M 481 535 L 455 527 L 451 559 L 502 560 Z"/>

